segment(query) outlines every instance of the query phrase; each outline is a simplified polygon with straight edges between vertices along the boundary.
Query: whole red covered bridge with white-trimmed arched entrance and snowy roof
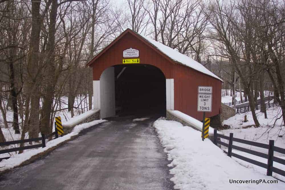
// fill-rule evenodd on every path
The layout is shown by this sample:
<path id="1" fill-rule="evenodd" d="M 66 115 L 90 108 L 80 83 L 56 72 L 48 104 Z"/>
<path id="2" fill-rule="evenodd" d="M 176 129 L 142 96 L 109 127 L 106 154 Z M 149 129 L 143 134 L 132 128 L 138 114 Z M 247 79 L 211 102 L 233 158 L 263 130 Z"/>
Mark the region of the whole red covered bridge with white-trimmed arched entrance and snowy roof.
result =
<path id="1" fill-rule="evenodd" d="M 94 108 L 100 117 L 117 112 L 178 110 L 198 120 L 198 86 L 212 86 L 212 111 L 221 112 L 222 80 L 200 63 L 159 42 L 125 30 L 87 63 L 93 68 Z"/>

